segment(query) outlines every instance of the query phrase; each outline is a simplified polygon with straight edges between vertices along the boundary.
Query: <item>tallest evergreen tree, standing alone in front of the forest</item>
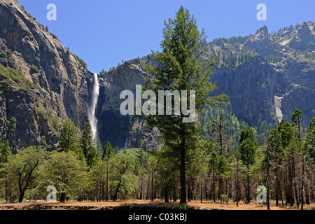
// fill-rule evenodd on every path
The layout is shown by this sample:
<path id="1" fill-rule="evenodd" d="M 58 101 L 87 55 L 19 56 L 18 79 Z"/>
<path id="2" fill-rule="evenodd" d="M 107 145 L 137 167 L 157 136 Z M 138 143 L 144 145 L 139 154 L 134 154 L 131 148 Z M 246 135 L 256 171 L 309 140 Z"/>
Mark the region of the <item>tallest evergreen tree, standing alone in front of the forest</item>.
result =
<path id="1" fill-rule="evenodd" d="M 205 104 L 218 104 L 218 100 L 227 99 L 225 95 L 209 97 L 209 93 L 216 87 L 209 80 L 214 62 L 212 57 L 205 62 L 199 61 L 206 51 L 206 48 L 201 48 L 205 35 L 204 31 L 198 31 L 196 20 L 188 10 L 181 6 L 176 18 L 165 22 L 163 36 L 164 40 L 160 44 L 162 52 L 153 52 L 153 59 L 160 62 L 160 66 L 146 66 L 146 90 L 153 90 L 155 93 L 158 90 L 195 90 L 196 113 Z M 186 204 L 186 153 L 195 148 L 200 128 L 196 122 L 183 123 L 186 115 L 182 112 L 179 116 L 174 113 L 172 116 L 147 116 L 146 120 L 149 127 L 158 127 L 165 146 L 179 151 L 180 203 Z"/>

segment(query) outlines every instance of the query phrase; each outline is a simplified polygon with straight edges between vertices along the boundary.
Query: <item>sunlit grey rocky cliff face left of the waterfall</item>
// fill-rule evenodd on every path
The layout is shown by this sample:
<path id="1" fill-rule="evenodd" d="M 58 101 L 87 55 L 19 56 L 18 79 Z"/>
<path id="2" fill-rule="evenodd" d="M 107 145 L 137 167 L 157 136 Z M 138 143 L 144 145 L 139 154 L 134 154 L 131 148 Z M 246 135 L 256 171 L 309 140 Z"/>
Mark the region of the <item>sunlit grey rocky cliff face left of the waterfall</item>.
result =
<path id="1" fill-rule="evenodd" d="M 61 120 L 87 120 L 92 74 L 16 1 L 0 1 L 0 21 L 0 140 L 15 148 L 45 137 L 55 148 Z M 22 81 L 11 81 L 14 72 Z"/>

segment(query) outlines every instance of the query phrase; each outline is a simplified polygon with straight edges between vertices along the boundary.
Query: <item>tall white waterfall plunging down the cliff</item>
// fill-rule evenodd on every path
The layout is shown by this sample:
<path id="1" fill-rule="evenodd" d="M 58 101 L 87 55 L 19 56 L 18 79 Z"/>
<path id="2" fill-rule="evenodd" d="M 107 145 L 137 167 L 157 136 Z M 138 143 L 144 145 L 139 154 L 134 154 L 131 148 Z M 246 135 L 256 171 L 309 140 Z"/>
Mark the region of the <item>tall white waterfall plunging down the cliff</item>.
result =
<path id="1" fill-rule="evenodd" d="M 94 139 L 97 139 L 97 118 L 95 116 L 95 111 L 97 109 L 97 101 L 99 99 L 99 78 L 97 76 L 96 73 L 94 73 L 94 86 L 93 86 L 93 92 L 92 92 L 92 102 L 91 102 L 91 106 L 90 109 L 88 111 L 88 116 L 89 116 L 89 120 L 90 120 L 90 124 L 92 127 L 92 131 L 94 134 Z"/>

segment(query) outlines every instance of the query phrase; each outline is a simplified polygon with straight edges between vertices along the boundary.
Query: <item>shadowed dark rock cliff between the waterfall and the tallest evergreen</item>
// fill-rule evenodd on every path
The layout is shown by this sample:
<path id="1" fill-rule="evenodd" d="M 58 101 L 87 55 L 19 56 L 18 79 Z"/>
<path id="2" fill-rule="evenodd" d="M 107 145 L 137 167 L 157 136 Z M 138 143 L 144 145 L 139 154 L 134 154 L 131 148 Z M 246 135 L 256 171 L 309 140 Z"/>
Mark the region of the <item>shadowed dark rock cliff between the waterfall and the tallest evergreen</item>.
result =
<path id="1" fill-rule="evenodd" d="M 141 147 L 153 149 L 160 145 L 156 130 L 147 130 L 143 121 L 134 116 L 122 116 L 120 104 L 125 99 L 120 99 L 120 92 L 131 90 L 136 95 L 136 85 L 144 85 L 144 65 L 152 63 L 151 57 L 132 59 L 118 68 L 102 73 L 100 78 L 97 130 L 102 144 L 110 141 L 112 146 L 119 148 Z"/>

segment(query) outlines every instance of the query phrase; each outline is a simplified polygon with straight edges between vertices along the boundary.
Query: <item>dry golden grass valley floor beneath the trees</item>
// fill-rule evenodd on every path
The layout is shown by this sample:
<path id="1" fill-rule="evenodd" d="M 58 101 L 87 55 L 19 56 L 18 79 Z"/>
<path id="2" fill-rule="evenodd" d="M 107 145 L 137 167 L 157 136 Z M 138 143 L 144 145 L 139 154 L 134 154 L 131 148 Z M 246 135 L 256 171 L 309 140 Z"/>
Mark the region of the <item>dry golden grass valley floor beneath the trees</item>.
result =
<path id="1" fill-rule="evenodd" d="M 298 210 L 297 207 L 275 207 L 275 202 L 271 202 L 271 210 Z M 44 201 L 37 202 L 23 202 L 14 204 L 0 204 L 0 210 L 160 210 L 160 209 L 174 209 L 179 205 L 179 202 L 165 203 L 161 200 L 127 200 L 118 202 L 56 202 L 49 203 Z M 188 202 L 187 209 L 189 210 L 267 210 L 267 206 L 262 206 L 258 202 L 251 202 L 251 204 L 236 203 L 226 204 L 213 201 L 191 201 Z M 304 205 L 304 210 L 315 210 L 315 204 Z"/>

